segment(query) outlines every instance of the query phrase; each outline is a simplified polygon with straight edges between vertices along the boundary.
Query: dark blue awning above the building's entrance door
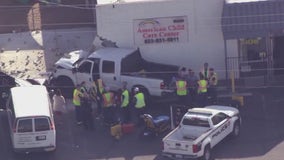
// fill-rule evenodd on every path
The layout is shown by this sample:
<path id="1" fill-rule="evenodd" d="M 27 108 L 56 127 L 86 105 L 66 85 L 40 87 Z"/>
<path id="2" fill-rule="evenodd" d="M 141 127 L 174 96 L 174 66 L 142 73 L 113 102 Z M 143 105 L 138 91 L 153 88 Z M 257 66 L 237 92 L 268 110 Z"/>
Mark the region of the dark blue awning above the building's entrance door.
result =
<path id="1" fill-rule="evenodd" d="M 225 0 L 224 39 L 284 34 L 284 0 Z"/>

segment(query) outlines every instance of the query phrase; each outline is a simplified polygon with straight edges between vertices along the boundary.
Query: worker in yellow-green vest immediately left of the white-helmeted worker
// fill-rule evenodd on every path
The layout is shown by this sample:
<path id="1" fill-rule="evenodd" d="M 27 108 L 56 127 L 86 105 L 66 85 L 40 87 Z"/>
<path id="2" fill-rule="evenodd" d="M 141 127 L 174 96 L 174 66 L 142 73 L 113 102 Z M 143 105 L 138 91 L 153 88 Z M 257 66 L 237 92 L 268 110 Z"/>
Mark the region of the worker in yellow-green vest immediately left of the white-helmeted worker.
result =
<path id="1" fill-rule="evenodd" d="M 130 109 L 129 109 L 129 91 L 127 90 L 127 82 L 122 84 L 121 94 L 121 113 L 122 123 L 128 123 L 130 121 Z"/>

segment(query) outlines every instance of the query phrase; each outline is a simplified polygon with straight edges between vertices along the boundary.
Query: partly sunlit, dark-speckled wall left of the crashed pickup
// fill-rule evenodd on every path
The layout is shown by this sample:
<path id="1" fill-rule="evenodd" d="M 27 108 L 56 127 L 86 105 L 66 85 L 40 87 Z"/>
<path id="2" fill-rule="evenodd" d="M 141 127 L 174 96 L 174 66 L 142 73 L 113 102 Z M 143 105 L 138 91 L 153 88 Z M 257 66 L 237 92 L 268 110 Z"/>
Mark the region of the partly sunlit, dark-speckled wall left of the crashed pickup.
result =
<path id="1" fill-rule="evenodd" d="M 20 78 L 37 78 L 73 50 L 91 50 L 94 28 L 0 34 L 0 70 Z"/>

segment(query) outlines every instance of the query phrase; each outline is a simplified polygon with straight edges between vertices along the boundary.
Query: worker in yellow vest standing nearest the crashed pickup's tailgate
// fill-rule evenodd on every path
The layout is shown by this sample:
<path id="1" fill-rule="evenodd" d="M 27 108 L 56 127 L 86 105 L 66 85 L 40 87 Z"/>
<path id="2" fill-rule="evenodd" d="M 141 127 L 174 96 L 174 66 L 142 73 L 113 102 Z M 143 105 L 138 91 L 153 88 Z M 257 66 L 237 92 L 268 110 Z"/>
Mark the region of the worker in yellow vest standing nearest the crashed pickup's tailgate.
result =
<path id="1" fill-rule="evenodd" d="M 176 81 L 176 94 L 178 96 L 178 103 L 181 105 L 187 104 L 187 96 L 188 96 L 188 90 L 187 90 L 187 82 L 184 78 L 179 78 Z"/>

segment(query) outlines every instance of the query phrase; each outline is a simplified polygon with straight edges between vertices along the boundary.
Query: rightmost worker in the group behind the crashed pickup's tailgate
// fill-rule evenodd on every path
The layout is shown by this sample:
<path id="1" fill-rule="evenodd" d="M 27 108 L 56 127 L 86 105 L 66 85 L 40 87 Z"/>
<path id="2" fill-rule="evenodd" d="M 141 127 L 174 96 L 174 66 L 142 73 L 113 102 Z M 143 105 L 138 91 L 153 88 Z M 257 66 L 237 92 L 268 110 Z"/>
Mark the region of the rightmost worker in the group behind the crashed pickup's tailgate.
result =
<path id="1" fill-rule="evenodd" d="M 209 69 L 209 79 L 208 79 L 208 96 L 210 98 L 211 103 L 216 104 L 217 102 L 217 84 L 218 84 L 218 76 L 214 71 L 214 68 Z"/>

